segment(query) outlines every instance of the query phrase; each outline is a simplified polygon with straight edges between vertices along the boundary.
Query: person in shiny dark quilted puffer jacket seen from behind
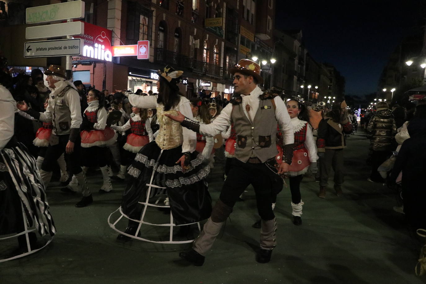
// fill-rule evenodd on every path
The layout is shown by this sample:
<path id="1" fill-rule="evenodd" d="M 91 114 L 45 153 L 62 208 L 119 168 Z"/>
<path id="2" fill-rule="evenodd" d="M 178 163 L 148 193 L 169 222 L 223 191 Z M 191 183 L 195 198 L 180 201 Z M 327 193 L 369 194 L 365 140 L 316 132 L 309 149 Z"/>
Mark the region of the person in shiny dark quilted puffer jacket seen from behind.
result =
<path id="1" fill-rule="evenodd" d="M 376 113 L 367 126 L 367 138 L 370 138 L 371 150 L 371 174 L 367 180 L 383 183 L 383 178 L 377 168 L 391 155 L 397 128 L 388 103 L 382 101 L 377 103 L 376 107 Z"/>

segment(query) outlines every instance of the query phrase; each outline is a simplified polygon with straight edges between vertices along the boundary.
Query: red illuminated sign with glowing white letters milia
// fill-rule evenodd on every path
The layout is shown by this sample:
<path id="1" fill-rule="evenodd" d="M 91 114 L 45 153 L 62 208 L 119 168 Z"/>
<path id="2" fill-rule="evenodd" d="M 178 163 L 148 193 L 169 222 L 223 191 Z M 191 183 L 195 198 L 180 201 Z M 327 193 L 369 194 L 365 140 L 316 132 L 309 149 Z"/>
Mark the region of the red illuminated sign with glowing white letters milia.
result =
<path id="1" fill-rule="evenodd" d="M 83 56 L 112 61 L 111 30 L 84 22 L 84 34 L 74 37 L 84 40 Z"/>

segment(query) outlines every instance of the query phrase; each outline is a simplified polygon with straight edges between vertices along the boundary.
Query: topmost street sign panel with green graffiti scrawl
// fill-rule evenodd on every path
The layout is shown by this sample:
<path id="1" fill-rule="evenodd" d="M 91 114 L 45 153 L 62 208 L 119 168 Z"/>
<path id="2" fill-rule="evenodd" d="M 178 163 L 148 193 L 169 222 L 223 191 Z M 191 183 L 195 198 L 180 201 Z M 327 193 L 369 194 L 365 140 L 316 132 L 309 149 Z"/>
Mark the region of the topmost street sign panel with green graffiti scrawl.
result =
<path id="1" fill-rule="evenodd" d="M 81 0 L 26 9 L 26 23 L 45 23 L 84 18 L 84 2 Z"/>

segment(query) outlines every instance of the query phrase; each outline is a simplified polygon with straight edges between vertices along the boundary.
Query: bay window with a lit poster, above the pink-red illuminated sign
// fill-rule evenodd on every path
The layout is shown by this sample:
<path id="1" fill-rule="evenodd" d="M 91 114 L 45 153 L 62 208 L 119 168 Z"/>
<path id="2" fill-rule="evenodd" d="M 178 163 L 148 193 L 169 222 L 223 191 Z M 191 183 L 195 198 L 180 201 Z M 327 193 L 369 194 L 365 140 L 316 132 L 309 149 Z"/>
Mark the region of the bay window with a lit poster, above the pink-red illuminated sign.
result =
<path id="1" fill-rule="evenodd" d="M 127 4 L 126 44 L 151 40 L 153 11 L 138 3 Z"/>

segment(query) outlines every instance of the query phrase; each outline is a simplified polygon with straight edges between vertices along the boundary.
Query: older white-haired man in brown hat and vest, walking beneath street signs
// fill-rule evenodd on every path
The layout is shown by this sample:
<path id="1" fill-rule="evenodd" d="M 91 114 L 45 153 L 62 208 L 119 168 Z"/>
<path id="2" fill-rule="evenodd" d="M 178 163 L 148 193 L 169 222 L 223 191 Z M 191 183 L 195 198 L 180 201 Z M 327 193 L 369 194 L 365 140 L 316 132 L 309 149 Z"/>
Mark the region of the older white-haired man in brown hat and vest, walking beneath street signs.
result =
<path id="1" fill-rule="evenodd" d="M 65 68 L 62 66 L 50 65 L 44 74 L 47 75 L 46 81 L 52 91 L 49 94 L 49 106 L 46 111 L 36 112 L 29 109 L 25 102 L 17 107 L 40 121 L 53 123 L 49 147 L 40 170 L 44 185 L 48 186 L 55 162 L 63 152 L 66 152 L 69 155 L 71 173 L 77 177 L 83 192 L 83 199 L 75 206 L 84 207 L 92 203 L 93 200 L 92 194 L 87 189 L 79 161 L 80 124 L 82 122 L 80 97 L 75 86 L 66 80 Z"/>

